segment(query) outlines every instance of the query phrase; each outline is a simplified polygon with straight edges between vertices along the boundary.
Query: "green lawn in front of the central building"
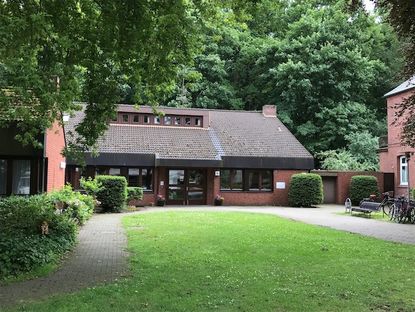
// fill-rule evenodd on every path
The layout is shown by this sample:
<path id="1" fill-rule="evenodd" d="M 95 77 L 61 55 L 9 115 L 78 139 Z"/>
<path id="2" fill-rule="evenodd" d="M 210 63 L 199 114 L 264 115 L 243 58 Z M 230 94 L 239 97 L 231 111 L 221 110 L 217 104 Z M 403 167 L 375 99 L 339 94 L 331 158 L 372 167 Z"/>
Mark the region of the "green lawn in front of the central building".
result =
<path id="1" fill-rule="evenodd" d="M 415 246 L 249 213 L 124 225 L 131 278 L 18 311 L 415 310 Z"/>

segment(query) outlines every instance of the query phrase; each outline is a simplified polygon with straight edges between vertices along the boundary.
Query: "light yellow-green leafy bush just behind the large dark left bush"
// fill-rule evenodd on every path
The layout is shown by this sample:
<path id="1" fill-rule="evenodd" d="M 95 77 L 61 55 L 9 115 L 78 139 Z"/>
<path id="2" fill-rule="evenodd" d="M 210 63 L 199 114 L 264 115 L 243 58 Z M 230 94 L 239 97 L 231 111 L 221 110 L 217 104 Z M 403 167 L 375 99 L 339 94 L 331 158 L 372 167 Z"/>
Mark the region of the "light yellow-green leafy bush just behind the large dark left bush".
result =
<path id="1" fill-rule="evenodd" d="M 94 212 L 95 199 L 92 196 L 74 192 L 72 187 L 66 185 L 59 191 L 47 195 L 55 204 L 63 204 L 63 209 L 71 218 L 79 224 L 84 224 Z"/>

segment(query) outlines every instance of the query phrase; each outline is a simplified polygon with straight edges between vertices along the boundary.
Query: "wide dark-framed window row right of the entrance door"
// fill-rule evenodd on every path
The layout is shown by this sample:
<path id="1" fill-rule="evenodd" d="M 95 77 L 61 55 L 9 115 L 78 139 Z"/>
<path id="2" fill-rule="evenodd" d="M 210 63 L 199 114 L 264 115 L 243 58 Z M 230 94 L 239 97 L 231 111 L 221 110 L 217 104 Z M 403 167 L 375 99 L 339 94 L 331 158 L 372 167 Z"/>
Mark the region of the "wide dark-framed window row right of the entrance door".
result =
<path id="1" fill-rule="evenodd" d="M 221 170 L 220 188 L 223 191 L 272 191 L 272 170 Z"/>

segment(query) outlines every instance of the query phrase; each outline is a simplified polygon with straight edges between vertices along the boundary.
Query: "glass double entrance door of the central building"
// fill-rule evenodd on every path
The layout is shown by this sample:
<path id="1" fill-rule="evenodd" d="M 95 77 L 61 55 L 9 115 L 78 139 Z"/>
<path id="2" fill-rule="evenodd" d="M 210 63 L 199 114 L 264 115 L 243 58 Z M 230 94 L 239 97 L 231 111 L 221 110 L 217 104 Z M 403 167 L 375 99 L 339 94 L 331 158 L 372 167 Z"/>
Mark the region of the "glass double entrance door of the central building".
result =
<path id="1" fill-rule="evenodd" d="M 167 204 L 206 204 L 206 171 L 204 169 L 168 170 Z"/>

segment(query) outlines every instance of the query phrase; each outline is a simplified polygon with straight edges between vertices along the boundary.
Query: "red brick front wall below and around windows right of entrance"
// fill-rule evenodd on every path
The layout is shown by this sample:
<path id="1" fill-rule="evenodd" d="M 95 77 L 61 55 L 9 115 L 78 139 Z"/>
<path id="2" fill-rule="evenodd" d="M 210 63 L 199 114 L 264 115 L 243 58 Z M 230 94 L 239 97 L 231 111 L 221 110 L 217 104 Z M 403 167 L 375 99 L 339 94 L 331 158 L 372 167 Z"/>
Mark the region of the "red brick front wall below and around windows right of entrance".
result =
<path id="1" fill-rule="evenodd" d="M 305 171 L 274 170 L 274 190 L 272 192 L 221 192 L 220 177 L 214 177 L 214 196 L 216 196 L 216 194 L 220 194 L 225 199 L 224 204 L 230 206 L 286 206 L 288 205 L 288 189 L 290 186 L 291 176 L 301 172 Z M 276 182 L 285 182 L 285 189 L 276 189 Z M 208 204 L 213 203 L 214 196 L 211 196 L 211 198 L 208 196 Z"/>

